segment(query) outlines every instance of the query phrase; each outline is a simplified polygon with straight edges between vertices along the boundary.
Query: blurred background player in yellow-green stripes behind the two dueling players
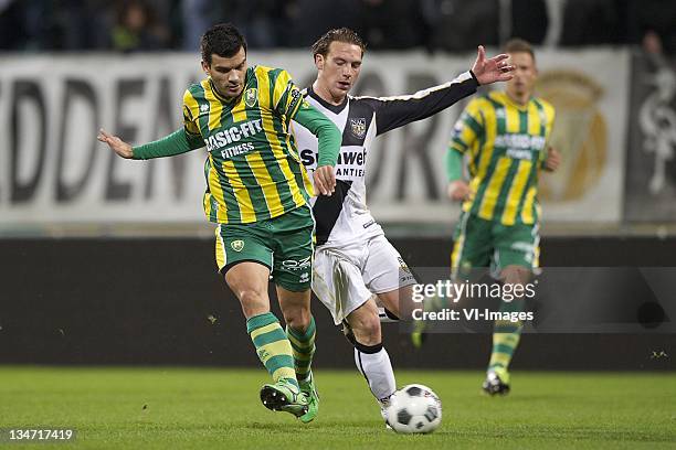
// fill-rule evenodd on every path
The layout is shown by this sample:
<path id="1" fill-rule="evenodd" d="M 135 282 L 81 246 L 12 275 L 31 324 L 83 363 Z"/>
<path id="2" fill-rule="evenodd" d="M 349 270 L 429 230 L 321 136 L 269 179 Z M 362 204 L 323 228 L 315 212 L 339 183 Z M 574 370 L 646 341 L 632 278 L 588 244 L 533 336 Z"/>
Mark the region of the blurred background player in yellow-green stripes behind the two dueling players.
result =
<path id="1" fill-rule="evenodd" d="M 515 39 L 505 53 L 516 67 L 514 78 L 504 92 L 493 90 L 467 105 L 446 154 L 448 196 L 463 202 L 451 266 L 454 280 L 464 280 L 472 268 L 490 267 L 501 282 L 522 286 L 539 259 L 538 176 L 540 170 L 556 171 L 561 156 L 547 146 L 554 109 L 534 96 L 538 71 L 532 47 Z M 463 157 L 469 183 L 463 179 Z M 500 302 L 503 312 L 522 309 L 522 298 Z M 495 322 L 483 384 L 487 394 L 509 392 L 509 363 L 521 330 L 520 322 Z"/>

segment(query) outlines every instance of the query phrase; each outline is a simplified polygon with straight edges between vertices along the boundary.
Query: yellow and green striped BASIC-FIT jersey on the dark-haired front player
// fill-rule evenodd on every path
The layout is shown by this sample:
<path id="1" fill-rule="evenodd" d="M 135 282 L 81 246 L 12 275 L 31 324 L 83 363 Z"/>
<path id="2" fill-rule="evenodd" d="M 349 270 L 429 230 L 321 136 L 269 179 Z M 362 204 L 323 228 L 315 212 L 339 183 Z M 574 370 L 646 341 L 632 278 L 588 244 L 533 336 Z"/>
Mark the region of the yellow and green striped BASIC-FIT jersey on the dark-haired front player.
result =
<path id="1" fill-rule="evenodd" d="M 252 223 L 306 204 L 313 188 L 288 128 L 303 104 L 286 71 L 264 66 L 246 71 L 236 99 L 222 97 L 210 78 L 186 90 L 184 130 L 209 153 L 203 205 L 211 222 Z"/>

